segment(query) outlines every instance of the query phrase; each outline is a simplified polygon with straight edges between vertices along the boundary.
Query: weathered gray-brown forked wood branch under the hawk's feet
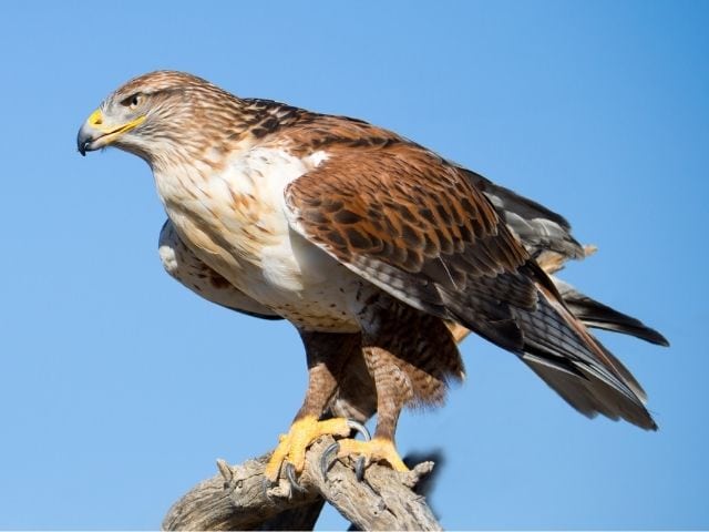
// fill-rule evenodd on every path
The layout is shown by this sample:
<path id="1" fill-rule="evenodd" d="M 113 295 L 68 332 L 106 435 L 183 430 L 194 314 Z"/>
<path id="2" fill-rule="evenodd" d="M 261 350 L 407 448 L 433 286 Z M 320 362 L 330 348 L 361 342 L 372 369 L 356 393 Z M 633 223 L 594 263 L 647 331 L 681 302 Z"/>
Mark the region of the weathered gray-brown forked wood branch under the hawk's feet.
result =
<path id="1" fill-rule="evenodd" d="M 238 466 L 219 460 L 219 473 L 173 504 L 163 530 L 307 530 L 312 529 L 323 501 L 360 530 L 441 530 L 425 499 L 412 491 L 433 462 L 420 463 L 408 473 L 371 464 L 359 481 L 349 464 L 336 460 L 326 479 L 319 462 L 332 441 L 322 438 L 308 450 L 298 479 L 302 492 L 292 490 L 285 479 L 273 487 L 266 483 L 268 456 Z"/>

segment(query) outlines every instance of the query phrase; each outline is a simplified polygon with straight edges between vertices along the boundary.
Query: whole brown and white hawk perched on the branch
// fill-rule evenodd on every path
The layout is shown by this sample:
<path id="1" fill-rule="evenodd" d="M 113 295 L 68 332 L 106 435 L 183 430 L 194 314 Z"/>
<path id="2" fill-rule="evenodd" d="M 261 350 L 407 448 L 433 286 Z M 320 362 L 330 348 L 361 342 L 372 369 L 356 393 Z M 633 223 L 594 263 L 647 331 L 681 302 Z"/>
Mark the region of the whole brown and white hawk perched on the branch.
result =
<path id="1" fill-rule="evenodd" d="M 401 410 L 463 376 L 466 329 L 515 354 L 572 407 L 657 428 L 646 395 L 588 327 L 667 345 L 552 277 L 583 248 L 559 215 L 391 131 L 243 99 L 158 71 L 110 94 L 82 155 L 115 146 L 152 168 L 166 269 L 219 305 L 300 332 L 308 388 L 266 469 L 300 472 L 322 434 L 338 457 L 405 471 Z M 350 438 L 377 413 L 373 438 Z"/>

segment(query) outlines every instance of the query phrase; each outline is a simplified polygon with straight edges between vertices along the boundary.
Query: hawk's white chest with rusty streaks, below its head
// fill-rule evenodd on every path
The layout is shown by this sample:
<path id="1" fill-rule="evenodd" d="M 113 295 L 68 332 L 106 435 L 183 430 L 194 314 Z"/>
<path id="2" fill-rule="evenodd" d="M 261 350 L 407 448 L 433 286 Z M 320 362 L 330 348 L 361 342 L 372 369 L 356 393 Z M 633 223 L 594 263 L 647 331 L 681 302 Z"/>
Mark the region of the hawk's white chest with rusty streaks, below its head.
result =
<path id="1" fill-rule="evenodd" d="M 181 238 L 255 299 L 279 305 L 322 283 L 333 262 L 288 225 L 285 187 L 325 158 L 257 147 L 225 164 L 207 160 L 155 172 L 158 194 Z"/>

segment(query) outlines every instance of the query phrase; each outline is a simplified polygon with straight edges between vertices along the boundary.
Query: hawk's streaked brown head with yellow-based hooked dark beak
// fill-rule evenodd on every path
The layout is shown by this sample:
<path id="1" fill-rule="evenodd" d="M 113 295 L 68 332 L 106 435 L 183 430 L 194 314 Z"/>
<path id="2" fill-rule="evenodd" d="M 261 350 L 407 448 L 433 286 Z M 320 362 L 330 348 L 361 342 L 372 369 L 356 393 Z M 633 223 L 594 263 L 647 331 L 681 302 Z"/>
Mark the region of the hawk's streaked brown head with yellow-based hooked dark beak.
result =
<path id="1" fill-rule="evenodd" d="M 223 135 L 238 108 L 238 99 L 201 78 L 151 72 L 110 94 L 81 126 L 76 144 L 82 155 L 113 145 L 153 164 Z"/>

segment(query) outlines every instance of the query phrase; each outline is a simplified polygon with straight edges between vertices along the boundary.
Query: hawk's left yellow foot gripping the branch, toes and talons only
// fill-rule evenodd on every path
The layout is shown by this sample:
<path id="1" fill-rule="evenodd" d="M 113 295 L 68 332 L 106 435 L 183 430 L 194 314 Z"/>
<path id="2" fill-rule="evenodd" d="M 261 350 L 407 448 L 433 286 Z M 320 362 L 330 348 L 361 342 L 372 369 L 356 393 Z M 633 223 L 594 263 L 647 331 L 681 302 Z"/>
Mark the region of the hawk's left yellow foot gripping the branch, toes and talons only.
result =
<path id="1" fill-rule="evenodd" d="M 306 450 L 315 440 L 326 434 L 349 436 L 352 429 L 367 430 L 356 421 L 345 418 L 318 421 L 315 416 L 306 416 L 294 421 L 288 433 L 280 434 L 278 447 L 266 464 L 266 478 L 270 482 L 276 482 L 284 462 L 292 463 L 296 473 L 302 472 L 306 464 Z"/>

